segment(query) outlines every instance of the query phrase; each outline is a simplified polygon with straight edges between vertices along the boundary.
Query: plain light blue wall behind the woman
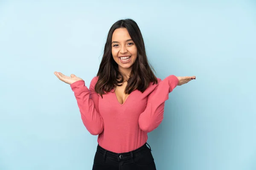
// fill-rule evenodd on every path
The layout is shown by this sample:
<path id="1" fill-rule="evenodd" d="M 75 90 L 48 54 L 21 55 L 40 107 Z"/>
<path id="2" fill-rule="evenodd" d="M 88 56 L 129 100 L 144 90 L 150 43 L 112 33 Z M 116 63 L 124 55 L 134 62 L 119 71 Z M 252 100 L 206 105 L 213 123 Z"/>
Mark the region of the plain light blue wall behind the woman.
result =
<path id="1" fill-rule="evenodd" d="M 157 170 L 256 170 L 256 1 L 0 1 L 0 170 L 90 170 L 97 136 L 53 73 L 96 75 L 134 19 L 157 77 L 196 80 L 148 133 Z"/>

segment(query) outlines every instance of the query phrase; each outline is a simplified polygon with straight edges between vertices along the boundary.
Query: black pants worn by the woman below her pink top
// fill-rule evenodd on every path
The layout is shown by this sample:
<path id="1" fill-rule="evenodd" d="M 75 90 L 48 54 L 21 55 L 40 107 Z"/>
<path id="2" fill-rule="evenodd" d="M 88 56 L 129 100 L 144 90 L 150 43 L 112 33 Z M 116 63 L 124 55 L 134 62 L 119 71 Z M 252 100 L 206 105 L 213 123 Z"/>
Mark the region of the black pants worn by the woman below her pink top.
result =
<path id="1" fill-rule="evenodd" d="M 97 146 L 93 170 L 156 170 L 151 148 L 142 147 L 126 153 L 114 153 Z"/>

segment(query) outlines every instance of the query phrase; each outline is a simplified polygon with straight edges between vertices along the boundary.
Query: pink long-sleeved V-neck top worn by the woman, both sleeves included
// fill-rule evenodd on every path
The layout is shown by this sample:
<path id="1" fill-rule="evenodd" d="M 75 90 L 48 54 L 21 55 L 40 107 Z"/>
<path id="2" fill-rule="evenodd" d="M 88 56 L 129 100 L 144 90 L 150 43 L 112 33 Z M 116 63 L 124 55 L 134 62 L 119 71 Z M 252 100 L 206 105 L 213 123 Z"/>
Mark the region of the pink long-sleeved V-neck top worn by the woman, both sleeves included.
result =
<path id="1" fill-rule="evenodd" d="M 148 132 L 163 120 L 164 102 L 179 80 L 171 75 L 151 83 L 141 93 L 133 91 L 121 105 L 114 90 L 99 96 L 94 90 L 99 77 L 94 77 L 89 89 L 84 80 L 70 85 L 74 91 L 81 119 L 87 130 L 98 136 L 98 143 L 115 153 L 129 152 L 141 147 L 148 139 Z"/>

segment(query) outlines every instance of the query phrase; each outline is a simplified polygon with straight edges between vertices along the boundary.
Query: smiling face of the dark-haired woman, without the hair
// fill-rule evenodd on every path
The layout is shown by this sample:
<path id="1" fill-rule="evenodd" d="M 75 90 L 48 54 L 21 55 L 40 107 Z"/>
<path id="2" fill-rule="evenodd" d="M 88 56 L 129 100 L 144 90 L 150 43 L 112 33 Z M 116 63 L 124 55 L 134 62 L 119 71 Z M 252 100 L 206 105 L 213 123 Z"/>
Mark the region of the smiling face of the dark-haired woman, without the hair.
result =
<path id="1" fill-rule="evenodd" d="M 138 57 L 137 47 L 126 28 L 117 28 L 112 35 L 112 56 L 119 70 L 131 69 Z"/>

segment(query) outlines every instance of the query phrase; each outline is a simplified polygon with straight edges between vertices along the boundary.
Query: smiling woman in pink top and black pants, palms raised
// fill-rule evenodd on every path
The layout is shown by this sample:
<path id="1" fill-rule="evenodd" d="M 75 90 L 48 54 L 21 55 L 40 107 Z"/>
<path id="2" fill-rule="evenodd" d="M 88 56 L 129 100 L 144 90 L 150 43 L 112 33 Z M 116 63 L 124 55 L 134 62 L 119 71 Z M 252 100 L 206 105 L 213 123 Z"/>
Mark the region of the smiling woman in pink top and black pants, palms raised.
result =
<path id="1" fill-rule="evenodd" d="M 134 20 L 119 20 L 108 32 L 102 61 L 89 89 L 84 80 L 54 72 L 74 91 L 81 119 L 98 135 L 93 170 L 156 170 L 147 133 L 163 120 L 169 93 L 192 77 L 157 78 Z"/>

